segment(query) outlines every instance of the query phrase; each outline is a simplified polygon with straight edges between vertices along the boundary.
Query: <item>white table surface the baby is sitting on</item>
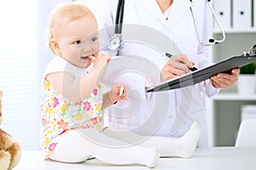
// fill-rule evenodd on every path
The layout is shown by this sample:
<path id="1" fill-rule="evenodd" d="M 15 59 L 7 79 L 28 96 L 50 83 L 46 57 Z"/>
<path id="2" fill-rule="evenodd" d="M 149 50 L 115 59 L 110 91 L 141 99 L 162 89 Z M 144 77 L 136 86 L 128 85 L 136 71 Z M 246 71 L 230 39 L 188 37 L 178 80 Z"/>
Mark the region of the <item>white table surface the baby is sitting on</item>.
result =
<path id="1" fill-rule="evenodd" d="M 78 164 L 44 161 L 41 151 L 23 151 L 14 170 L 151 169 L 139 165 L 114 166 L 97 159 Z M 160 158 L 154 169 L 173 170 L 256 170 L 256 147 L 198 148 L 189 159 Z"/>

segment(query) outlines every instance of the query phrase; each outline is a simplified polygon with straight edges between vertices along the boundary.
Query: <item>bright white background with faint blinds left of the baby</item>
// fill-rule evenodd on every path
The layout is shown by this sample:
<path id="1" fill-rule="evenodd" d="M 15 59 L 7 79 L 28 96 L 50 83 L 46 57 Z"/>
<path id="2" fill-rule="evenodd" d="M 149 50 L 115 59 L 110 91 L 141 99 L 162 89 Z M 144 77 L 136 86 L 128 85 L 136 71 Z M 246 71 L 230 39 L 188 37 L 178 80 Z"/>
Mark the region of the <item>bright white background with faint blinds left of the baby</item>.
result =
<path id="1" fill-rule="evenodd" d="M 1 128 L 19 141 L 23 150 L 40 149 L 40 80 L 51 58 L 45 29 L 49 11 L 61 2 L 67 1 L 0 3 Z"/>

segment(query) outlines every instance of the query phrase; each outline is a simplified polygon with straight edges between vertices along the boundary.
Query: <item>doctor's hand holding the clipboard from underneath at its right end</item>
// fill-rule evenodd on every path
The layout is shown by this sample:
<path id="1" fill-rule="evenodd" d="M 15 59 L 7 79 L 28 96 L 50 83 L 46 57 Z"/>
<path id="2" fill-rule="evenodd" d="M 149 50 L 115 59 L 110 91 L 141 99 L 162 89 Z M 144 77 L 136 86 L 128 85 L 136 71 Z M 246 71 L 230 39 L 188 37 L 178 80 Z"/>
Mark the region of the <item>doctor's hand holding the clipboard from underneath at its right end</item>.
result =
<path id="1" fill-rule="evenodd" d="M 230 88 L 238 80 L 239 69 L 233 69 L 230 73 L 218 73 L 211 77 L 214 88 Z"/>

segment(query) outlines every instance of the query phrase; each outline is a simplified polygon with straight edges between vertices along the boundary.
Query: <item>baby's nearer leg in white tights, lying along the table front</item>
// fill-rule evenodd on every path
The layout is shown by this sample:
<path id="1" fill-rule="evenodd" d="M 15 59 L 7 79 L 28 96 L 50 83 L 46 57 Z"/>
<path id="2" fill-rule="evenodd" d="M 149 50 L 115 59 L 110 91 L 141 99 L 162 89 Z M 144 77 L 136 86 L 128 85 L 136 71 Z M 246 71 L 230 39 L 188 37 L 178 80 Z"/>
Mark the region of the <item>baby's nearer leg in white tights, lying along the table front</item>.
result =
<path id="1" fill-rule="evenodd" d="M 84 129 L 84 131 L 88 136 L 93 134 L 92 139 L 96 137 L 99 140 L 107 141 L 111 145 L 119 144 L 121 146 L 125 144 L 94 129 Z M 148 167 L 154 167 L 159 158 L 159 151 L 156 148 L 137 145 L 131 147 L 108 147 L 107 145 L 96 144 L 92 139 L 82 136 L 79 131 L 71 130 L 59 141 L 49 158 L 55 161 L 81 162 L 91 156 L 95 156 L 111 164 L 141 164 Z"/>

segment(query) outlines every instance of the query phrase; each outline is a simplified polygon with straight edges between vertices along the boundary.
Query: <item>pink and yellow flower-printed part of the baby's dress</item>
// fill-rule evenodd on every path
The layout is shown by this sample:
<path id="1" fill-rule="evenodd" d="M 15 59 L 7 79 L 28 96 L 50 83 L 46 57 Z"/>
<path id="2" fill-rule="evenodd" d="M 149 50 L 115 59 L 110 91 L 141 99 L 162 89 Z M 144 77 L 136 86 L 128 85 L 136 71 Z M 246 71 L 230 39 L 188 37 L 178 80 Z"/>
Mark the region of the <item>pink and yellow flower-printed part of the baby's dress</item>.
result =
<path id="1" fill-rule="evenodd" d="M 41 88 L 42 116 L 40 122 L 40 143 L 44 153 L 49 155 L 61 137 L 71 129 L 102 130 L 101 109 L 102 89 L 100 85 L 83 101 L 74 103 L 65 99 L 44 79 Z"/>

